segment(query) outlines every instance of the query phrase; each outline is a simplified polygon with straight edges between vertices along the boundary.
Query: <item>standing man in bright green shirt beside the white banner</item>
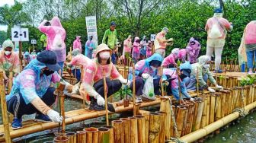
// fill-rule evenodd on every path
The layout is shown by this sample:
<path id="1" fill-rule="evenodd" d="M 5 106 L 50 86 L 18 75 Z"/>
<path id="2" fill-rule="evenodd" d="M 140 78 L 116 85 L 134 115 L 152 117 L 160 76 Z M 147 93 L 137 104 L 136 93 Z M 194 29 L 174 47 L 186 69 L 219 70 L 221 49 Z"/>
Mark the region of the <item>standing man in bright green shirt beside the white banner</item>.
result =
<path id="1" fill-rule="evenodd" d="M 110 28 L 105 30 L 104 37 L 102 39 L 102 43 L 107 44 L 107 46 L 112 49 L 111 60 L 114 64 L 116 64 L 116 56 L 114 55 L 114 50 L 117 46 L 117 30 L 116 30 L 116 23 L 112 21 L 110 23 Z"/>

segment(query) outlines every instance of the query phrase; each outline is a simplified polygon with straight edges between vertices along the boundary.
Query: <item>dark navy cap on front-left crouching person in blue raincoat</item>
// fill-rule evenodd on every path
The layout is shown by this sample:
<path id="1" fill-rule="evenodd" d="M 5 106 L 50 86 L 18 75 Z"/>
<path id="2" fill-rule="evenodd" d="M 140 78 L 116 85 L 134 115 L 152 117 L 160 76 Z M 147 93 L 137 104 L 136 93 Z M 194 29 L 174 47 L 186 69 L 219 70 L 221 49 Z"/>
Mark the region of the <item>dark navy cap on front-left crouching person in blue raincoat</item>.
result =
<path id="1" fill-rule="evenodd" d="M 50 50 L 44 50 L 37 56 L 37 61 L 43 62 L 47 68 L 51 71 L 59 71 L 61 68 L 57 63 L 57 57 L 55 52 Z"/>

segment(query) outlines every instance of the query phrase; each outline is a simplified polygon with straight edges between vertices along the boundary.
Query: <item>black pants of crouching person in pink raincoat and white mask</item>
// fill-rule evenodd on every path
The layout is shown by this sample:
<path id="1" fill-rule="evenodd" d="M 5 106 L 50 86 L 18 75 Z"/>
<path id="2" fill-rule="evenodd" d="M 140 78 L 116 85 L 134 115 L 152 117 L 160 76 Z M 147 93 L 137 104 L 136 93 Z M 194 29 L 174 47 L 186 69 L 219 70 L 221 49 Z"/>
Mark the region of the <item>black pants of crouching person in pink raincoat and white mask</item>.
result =
<path id="1" fill-rule="evenodd" d="M 107 97 L 110 97 L 112 94 L 116 93 L 122 87 L 122 83 L 119 80 L 110 80 L 106 78 L 107 83 Z M 94 84 L 94 90 L 104 98 L 104 82 L 103 79 Z M 95 100 L 94 97 L 90 97 L 90 100 Z"/>

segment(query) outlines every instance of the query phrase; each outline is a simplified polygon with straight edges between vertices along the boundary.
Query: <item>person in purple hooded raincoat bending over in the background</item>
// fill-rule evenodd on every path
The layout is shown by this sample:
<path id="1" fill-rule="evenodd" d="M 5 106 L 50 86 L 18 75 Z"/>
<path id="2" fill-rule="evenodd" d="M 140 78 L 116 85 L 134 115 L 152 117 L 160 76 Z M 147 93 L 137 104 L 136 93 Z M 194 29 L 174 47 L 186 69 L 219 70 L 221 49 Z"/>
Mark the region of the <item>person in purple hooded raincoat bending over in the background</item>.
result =
<path id="1" fill-rule="evenodd" d="M 194 64 L 197 62 L 197 57 L 199 55 L 200 49 L 200 43 L 195 40 L 194 37 L 191 37 L 186 47 L 187 60 L 190 62 L 190 64 Z"/>

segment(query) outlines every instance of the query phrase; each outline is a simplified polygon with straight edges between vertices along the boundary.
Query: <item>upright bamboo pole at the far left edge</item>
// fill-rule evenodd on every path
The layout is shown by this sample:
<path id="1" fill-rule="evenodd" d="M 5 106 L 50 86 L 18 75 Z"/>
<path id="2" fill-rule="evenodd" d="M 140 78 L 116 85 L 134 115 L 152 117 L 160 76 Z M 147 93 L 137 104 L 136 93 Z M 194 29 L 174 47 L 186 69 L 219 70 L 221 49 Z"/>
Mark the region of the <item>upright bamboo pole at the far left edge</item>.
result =
<path id="1" fill-rule="evenodd" d="M 5 129 L 5 141 L 11 142 L 10 131 L 9 131 L 9 122 L 7 115 L 7 106 L 5 100 L 5 82 L 3 72 L 0 71 L 0 96 L 1 96 L 1 109 L 2 109 L 2 121 Z"/>

